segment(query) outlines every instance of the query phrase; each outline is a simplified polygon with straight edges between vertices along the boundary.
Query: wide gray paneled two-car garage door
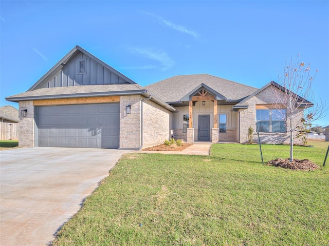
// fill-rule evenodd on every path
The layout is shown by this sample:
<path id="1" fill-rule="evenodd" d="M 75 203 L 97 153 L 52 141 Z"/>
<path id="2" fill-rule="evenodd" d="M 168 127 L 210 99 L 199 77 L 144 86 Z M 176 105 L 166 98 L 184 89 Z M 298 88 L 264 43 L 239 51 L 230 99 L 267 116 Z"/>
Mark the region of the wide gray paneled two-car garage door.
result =
<path id="1" fill-rule="evenodd" d="M 41 147 L 119 148 L 119 104 L 39 106 Z"/>

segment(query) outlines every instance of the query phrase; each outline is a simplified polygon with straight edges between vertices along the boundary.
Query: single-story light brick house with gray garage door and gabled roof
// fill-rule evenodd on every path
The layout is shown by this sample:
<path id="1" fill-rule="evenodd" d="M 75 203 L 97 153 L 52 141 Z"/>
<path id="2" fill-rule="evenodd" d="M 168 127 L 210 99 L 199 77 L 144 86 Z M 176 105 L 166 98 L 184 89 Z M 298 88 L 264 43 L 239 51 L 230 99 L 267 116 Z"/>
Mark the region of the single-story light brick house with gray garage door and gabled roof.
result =
<path id="1" fill-rule="evenodd" d="M 273 90 L 283 93 L 273 81 L 257 89 L 208 74 L 141 87 L 76 46 L 27 92 L 6 99 L 19 103 L 20 146 L 141 149 L 170 137 L 243 143 L 256 119 L 262 142 L 287 142 Z"/>

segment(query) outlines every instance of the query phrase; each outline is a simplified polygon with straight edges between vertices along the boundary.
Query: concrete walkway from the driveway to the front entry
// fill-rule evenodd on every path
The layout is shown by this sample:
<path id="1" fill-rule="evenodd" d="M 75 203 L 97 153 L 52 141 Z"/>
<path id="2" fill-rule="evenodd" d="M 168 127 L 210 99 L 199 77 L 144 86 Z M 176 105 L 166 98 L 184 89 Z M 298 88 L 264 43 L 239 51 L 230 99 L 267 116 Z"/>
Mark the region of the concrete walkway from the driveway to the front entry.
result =
<path id="1" fill-rule="evenodd" d="M 138 151 L 136 153 L 168 154 L 168 155 L 209 155 L 212 142 L 194 142 L 182 151 Z"/>

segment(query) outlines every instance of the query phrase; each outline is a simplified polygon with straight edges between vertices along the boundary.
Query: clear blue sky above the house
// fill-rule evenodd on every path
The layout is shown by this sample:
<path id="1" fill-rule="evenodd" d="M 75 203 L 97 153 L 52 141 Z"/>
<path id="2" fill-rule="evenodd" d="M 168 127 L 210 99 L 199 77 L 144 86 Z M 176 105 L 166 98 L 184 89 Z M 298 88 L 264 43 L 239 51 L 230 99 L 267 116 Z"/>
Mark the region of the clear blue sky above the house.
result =
<path id="1" fill-rule="evenodd" d="M 76 45 L 145 86 L 207 73 L 252 87 L 278 81 L 286 59 L 319 72 L 329 104 L 329 1 L 0 2 L 1 106 Z M 316 122 L 329 125 L 329 115 Z"/>

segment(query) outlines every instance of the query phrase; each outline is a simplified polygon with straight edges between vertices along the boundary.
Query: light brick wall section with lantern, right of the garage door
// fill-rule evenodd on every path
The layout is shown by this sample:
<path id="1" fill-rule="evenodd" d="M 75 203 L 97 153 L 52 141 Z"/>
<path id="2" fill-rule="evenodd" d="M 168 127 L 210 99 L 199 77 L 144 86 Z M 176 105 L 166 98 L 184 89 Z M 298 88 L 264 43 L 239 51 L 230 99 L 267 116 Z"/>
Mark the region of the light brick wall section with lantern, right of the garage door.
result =
<path id="1" fill-rule="evenodd" d="M 140 146 L 140 95 L 120 96 L 120 148 Z M 125 107 L 131 105 L 131 114 Z"/>

